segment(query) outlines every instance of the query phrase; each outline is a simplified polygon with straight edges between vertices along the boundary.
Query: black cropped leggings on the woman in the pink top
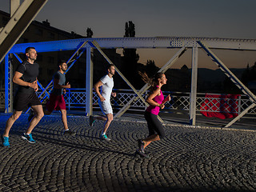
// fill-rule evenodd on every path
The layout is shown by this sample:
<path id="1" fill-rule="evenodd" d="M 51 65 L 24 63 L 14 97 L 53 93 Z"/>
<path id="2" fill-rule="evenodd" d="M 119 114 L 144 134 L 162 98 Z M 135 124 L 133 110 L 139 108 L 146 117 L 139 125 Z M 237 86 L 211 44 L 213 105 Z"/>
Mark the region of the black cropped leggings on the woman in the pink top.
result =
<path id="1" fill-rule="evenodd" d="M 149 128 L 149 136 L 158 134 L 159 138 L 166 137 L 162 123 L 158 120 L 158 115 L 145 111 L 144 117 L 146 118 L 147 126 Z"/>

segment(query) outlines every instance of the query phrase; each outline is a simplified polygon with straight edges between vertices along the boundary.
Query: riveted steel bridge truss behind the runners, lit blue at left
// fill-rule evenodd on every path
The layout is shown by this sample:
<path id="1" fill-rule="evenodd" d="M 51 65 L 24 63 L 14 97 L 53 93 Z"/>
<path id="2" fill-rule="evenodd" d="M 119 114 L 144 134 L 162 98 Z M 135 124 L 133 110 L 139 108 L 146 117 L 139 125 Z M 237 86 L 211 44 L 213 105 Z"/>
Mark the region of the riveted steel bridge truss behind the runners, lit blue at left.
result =
<path id="1" fill-rule="evenodd" d="M 207 45 L 207 46 L 206 46 Z M 50 51 L 62 51 L 62 50 L 75 50 L 74 55 L 69 59 L 71 63 L 70 67 L 74 65 L 74 62 L 84 53 L 86 50 L 86 114 L 92 114 L 92 104 L 93 104 L 93 85 L 92 85 L 92 75 L 93 75 L 93 63 L 91 61 L 91 55 L 93 54 L 93 49 L 97 49 L 106 61 L 110 64 L 113 62 L 104 54 L 102 48 L 105 49 L 117 49 L 117 48 L 126 48 L 126 49 L 138 49 L 138 48 L 166 48 L 174 49 L 178 48 L 178 52 L 174 54 L 173 58 L 170 58 L 170 61 L 166 63 L 159 71 L 165 72 L 182 56 L 182 54 L 187 49 L 192 49 L 192 74 L 191 74 L 191 93 L 190 93 L 190 124 L 195 125 L 196 120 L 196 101 L 197 101 L 197 78 L 198 78 L 198 48 L 202 48 L 206 54 L 212 58 L 212 60 L 224 71 L 224 73 L 229 77 L 236 86 L 248 98 L 250 98 L 252 104 L 242 111 L 237 118 L 234 118 L 226 127 L 231 126 L 239 118 L 241 118 L 246 112 L 256 106 L 256 97 L 250 92 L 246 86 L 239 81 L 238 78 L 224 65 L 223 62 L 214 55 L 210 49 L 223 49 L 223 50 L 256 50 L 256 40 L 253 39 L 230 39 L 230 38 L 80 38 L 80 39 L 71 39 L 71 40 L 62 40 L 62 41 L 53 41 L 53 42 L 34 42 L 34 43 L 22 43 L 17 44 L 12 47 L 8 53 L 10 54 L 21 54 L 24 52 L 27 46 L 34 46 L 38 53 L 40 52 L 50 52 Z M 81 53 L 79 54 L 79 50 Z M 74 57 L 77 57 L 74 59 Z M 11 74 L 11 63 L 8 62 L 6 57 L 6 77 L 10 77 Z M 69 67 L 69 69 L 70 69 Z M 138 99 L 141 99 L 142 102 L 145 102 L 143 94 L 148 90 L 149 86 L 145 85 L 141 90 L 135 90 L 134 86 L 122 75 L 122 73 L 116 68 L 118 74 L 122 79 L 134 90 L 135 95 L 122 107 L 121 110 L 115 115 L 115 118 L 120 117 L 125 111 L 130 107 L 131 103 L 136 102 Z M 11 93 L 11 78 L 6 78 L 6 95 Z M 51 88 L 52 82 L 46 88 L 42 88 L 42 93 L 40 98 L 45 98 L 49 96 L 49 89 Z M 40 86 L 41 84 L 38 83 Z M 10 103 L 12 99 L 8 97 L 6 99 L 6 112 L 10 112 Z M 147 105 L 147 104 L 146 104 Z"/>

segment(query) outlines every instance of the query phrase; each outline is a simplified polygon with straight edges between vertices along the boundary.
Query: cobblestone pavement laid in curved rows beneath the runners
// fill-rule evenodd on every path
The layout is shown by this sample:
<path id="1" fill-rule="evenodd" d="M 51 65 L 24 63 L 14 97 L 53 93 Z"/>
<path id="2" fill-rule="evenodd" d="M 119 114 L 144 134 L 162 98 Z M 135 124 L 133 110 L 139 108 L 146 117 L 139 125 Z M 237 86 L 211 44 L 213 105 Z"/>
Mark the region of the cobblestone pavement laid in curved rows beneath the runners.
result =
<path id="1" fill-rule="evenodd" d="M 9 114 L 1 114 L 4 130 Z M 166 138 L 134 157 L 146 123 L 104 122 L 69 116 L 76 136 L 64 136 L 59 115 L 42 118 L 35 144 L 22 140 L 28 115 L 15 122 L 10 147 L 0 147 L 0 191 L 256 191 L 254 130 L 166 125 Z"/>

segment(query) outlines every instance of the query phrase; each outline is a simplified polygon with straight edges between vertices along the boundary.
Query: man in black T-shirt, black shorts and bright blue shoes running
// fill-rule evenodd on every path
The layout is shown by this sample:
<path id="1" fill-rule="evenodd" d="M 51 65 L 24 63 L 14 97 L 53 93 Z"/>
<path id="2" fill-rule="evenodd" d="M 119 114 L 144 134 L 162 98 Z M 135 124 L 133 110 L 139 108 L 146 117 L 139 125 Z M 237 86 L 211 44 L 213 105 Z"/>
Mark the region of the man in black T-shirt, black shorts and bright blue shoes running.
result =
<path id="1" fill-rule="evenodd" d="M 22 62 L 17 70 L 15 71 L 13 82 L 18 84 L 18 92 L 14 97 L 14 114 L 10 116 L 10 118 L 6 122 L 6 129 L 2 134 L 2 144 L 3 146 L 10 146 L 9 143 L 9 132 L 10 128 L 13 126 L 14 122 L 20 117 L 22 114 L 22 110 L 26 108 L 26 106 L 31 106 L 34 110 L 35 116 L 30 121 L 30 125 L 26 130 L 26 133 L 22 135 L 22 138 L 30 143 L 34 143 L 34 139 L 32 138 L 32 130 L 34 126 L 38 124 L 38 122 L 43 117 L 42 104 L 38 99 L 36 91 L 38 91 L 38 74 L 39 74 L 39 65 L 34 62 L 37 58 L 37 51 L 34 47 L 26 48 L 26 61 Z"/>

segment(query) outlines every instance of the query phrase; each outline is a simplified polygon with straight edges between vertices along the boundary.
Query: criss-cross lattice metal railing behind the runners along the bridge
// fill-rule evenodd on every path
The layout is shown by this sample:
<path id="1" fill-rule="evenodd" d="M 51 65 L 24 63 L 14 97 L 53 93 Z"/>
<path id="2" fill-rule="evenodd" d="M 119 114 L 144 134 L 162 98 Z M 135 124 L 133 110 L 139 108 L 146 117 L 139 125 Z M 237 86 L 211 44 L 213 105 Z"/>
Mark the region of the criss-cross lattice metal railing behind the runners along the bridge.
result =
<path id="1" fill-rule="evenodd" d="M 117 93 L 116 98 L 111 98 L 111 103 L 113 105 L 114 110 L 119 110 L 122 106 L 125 106 L 126 103 L 130 100 L 130 98 L 134 97 L 133 90 L 113 90 Z M 42 90 L 38 90 L 38 94 L 40 94 Z M 170 113 L 175 112 L 175 110 L 183 110 L 185 113 L 189 113 L 190 110 L 190 93 L 184 92 L 171 92 L 171 91 L 163 91 L 162 92 L 165 97 L 170 94 L 171 100 L 170 102 L 166 102 L 165 110 L 161 110 L 162 113 Z M 148 91 L 142 95 L 143 98 L 146 99 L 146 95 Z M 211 94 L 211 95 L 219 95 L 219 94 Z M 5 105 L 5 90 L 0 90 L 0 104 L 4 107 Z M 78 110 L 78 109 L 86 109 L 86 89 L 68 89 L 66 90 L 66 94 L 64 94 L 64 99 L 66 101 L 67 110 Z M 47 98 L 42 98 L 42 102 L 45 103 Z M 207 100 L 207 102 L 206 102 Z M 202 111 L 206 112 L 222 112 L 222 113 L 237 113 L 240 114 L 242 110 L 245 110 L 248 106 L 252 104 L 249 98 L 246 95 L 239 95 L 238 98 L 210 98 L 209 96 L 206 98 L 206 94 L 198 93 L 197 94 L 197 105 L 196 111 L 197 114 L 200 114 Z M 223 105 L 225 103 L 225 106 Z M 211 104 L 211 105 L 210 105 Z M 202 105 L 207 107 L 202 107 Z M 94 92 L 93 96 L 93 107 L 94 109 L 99 109 L 98 106 L 98 96 Z M 144 111 L 146 109 L 146 105 L 142 102 L 141 99 L 138 99 L 135 102 L 131 103 L 131 106 L 128 111 Z M 255 115 L 256 107 L 252 108 L 248 111 L 246 116 Z"/>

